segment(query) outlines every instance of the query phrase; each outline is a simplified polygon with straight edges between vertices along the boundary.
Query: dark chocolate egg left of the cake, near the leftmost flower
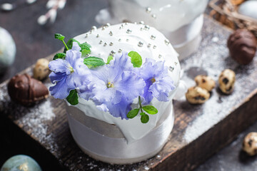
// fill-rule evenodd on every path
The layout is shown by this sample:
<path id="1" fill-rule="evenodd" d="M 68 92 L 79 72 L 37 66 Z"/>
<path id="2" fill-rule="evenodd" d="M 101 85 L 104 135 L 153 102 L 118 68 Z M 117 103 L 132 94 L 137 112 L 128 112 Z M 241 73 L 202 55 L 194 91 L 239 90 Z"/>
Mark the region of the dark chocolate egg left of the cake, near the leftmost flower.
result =
<path id="1" fill-rule="evenodd" d="M 46 86 L 26 73 L 11 78 L 8 83 L 8 93 L 12 100 L 26 106 L 49 96 Z"/>

